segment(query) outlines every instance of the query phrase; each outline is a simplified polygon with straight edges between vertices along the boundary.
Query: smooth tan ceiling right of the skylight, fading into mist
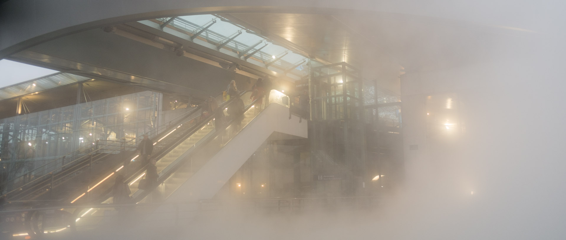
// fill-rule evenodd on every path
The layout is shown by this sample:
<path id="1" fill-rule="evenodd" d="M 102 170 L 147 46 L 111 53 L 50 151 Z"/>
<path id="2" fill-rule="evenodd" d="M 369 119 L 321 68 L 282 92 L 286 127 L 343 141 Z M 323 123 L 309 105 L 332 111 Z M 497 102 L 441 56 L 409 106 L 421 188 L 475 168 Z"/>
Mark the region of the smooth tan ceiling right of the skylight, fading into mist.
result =
<path id="1" fill-rule="evenodd" d="M 221 14 L 331 63 L 346 61 L 398 92 L 398 70 L 434 70 L 513 56 L 533 33 L 462 21 L 394 14 Z M 385 75 L 385 76 L 384 76 Z"/>

